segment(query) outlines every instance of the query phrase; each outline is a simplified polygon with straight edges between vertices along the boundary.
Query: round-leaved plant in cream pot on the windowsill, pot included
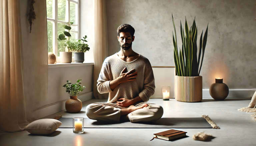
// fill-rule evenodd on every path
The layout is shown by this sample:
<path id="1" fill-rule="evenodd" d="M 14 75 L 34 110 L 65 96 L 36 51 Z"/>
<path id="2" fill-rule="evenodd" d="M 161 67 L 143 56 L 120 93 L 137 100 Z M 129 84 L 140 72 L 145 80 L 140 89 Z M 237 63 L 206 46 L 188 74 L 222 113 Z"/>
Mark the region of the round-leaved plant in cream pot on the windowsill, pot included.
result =
<path id="1" fill-rule="evenodd" d="M 68 25 L 72 25 L 73 22 L 70 22 Z M 67 43 L 69 42 L 69 37 L 71 37 L 71 34 L 69 31 L 71 30 L 71 27 L 68 25 L 63 25 L 63 28 L 67 31 L 64 31 L 58 36 L 58 41 L 63 48 L 64 52 L 60 52 L 60 63 L 71 63 L 72 62 L 72 50 L 67 47 Z M 66 38 L 67 37 L 67 38 Z"/>

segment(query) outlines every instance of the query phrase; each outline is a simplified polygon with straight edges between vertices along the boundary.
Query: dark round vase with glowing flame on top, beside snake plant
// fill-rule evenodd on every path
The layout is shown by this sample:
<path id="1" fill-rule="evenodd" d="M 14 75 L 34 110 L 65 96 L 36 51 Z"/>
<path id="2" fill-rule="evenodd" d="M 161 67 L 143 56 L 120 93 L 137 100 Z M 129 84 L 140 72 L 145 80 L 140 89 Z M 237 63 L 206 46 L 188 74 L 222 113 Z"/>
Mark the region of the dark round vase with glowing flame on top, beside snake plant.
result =
<path id="1" fill-rule="evenodd" d="M 215 78 L 215 83 L 210 87 L 210 95 L 215 100 L 224 100 L 228 96 L 228 86 L 223 83 L 223 78 Z"/>

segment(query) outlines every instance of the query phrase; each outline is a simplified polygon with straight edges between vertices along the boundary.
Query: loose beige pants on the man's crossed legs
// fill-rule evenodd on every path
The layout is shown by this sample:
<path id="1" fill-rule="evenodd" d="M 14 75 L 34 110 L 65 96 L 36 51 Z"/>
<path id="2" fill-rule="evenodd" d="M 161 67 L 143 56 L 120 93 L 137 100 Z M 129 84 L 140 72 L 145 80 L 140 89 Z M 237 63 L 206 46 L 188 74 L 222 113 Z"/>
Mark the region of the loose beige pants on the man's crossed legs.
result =
<path id="1" fill-rule="evenodd" d="M 141 106 L 143 103 L 135 103 L 134 106 Z M 128 115 L 122 116 L 130 122 L 150 122 L 160 119 L 163 115 L 162 106 L 154 103 L 147 103 L 147 107 L 137 109 Z M 121 107 L 114 103 L 92 103 L 86 107 L 86 115 L 88 118 L 105 122 L 119 122 L 121 118 Z"/>

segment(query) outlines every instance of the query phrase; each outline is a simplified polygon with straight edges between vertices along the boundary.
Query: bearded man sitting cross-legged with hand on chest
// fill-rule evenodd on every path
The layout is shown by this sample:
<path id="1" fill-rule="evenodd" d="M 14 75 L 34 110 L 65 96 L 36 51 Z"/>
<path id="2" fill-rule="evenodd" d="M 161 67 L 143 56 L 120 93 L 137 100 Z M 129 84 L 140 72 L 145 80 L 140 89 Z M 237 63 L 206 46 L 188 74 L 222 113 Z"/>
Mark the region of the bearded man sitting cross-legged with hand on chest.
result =
<path id="1" fill-rule="evenodd" d="M 160 105 L 147 103 L 155 92 L 154 74 L 149 60 L 132 50 L 134 32 L 128 24 L 118 27 L 121 49 L 105 59 L 97 80 L 99 93 L 109 92 L 108 102 L 88 105 L 86 115 L 90 119 L 149 122 L 162 117 Z"/>

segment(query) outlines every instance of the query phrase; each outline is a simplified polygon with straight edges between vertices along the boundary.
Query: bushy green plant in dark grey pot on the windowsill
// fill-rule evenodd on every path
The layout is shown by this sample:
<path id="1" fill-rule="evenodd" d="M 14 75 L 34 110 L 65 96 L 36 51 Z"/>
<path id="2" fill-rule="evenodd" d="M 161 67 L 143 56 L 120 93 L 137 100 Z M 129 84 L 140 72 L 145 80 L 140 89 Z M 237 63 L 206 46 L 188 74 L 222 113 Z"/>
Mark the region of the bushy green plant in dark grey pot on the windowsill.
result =
<path id="1" fill-rule="evenodd" d="M 86 38 L 87 38 L 87 36 L 85 35 L 83 37 L 83 39 L 79 39 L 77 41 L 77 46 L 73 49 L 75 51 L 74 52 L 74 61 L 76 63 L 83 63 L 84 62 L 84 53 L 86 51 L 90 50 L 90 47 L 88 46 L 88 44 L 85 43 L 85 42 L 87 42 Z"/>

